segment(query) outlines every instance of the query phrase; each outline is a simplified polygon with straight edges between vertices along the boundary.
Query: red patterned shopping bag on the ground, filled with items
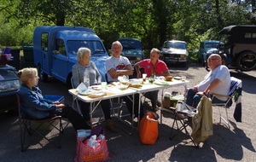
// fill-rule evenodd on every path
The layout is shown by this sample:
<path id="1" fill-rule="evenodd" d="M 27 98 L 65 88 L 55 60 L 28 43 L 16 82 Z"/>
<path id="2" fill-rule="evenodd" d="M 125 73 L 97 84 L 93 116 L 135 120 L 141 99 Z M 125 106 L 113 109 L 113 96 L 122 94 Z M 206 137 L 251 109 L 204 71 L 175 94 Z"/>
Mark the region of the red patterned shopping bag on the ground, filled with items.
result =
<path id="1" fill-rule="evenodd" d="M 92 133 L 93 130 L 94 129 L 92 129 Z M 96 128 L 96 130 L 100 129 Z M 91 148 L 90 146 L 84 144 L 84 142 L 80 141 L 79 138 L 77 138 L 77 153 L 74 156 L 75 162 L 102 162 L 107 161 L 110 158 L 111 156 L 108 151 L 106 137 L 102 142 L 100 142 L 100 145 L 96 146 L 96 148 Z"/>

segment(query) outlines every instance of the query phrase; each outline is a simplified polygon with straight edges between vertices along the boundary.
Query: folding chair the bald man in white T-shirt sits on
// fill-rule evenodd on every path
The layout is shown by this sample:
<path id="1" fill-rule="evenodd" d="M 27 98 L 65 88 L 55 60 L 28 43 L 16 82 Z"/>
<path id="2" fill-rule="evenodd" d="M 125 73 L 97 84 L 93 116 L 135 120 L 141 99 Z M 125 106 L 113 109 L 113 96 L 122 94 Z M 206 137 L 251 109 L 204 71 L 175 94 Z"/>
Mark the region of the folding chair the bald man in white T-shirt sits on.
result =
<path id="1" fill-rule="evenodd" d="M 236 90 L 238 90 L 239 86 L 241 86 L 241 80 L 238 79 L 238 78 L 231 77 L 230 78 L 230 93 L 229 93 L 229 95 L 212 94 L 212 100 L 215 97 L 218 97 L 218 96 L 227 98 L 227 100 L 225 102 L 222 102 L 222 103 L 212 102 L 212 106 L 213 107 L 218 107 L 219 123 L 221 123 L 221 120 L 223 119 L 224 122 L 228 125 L 228 128 L 230 128 L 228 109 L 232 105 L 232 99 L 236 95 Z M 223 114 L 221 113 L 220 107 L 224 107 L 225 112 L 226 112 L 226 118 L 224 118 Z"/>

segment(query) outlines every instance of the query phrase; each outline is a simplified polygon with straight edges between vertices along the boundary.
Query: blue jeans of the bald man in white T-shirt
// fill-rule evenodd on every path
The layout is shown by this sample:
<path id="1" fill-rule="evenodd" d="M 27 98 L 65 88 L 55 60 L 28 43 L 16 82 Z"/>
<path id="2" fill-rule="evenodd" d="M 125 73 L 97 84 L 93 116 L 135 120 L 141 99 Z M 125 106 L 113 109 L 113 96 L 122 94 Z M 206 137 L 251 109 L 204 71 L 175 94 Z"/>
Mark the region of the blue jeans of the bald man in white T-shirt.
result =
<path id="1" fill-rule="evenodd" d="M 201 95 L 196 95 L 197 92 L 195 92 L 192 88 L 188 90 L 187 94 L 187 100 L 186 103 L 191 107 L 197 107 L 198 103 L 201 100 Z M 218 100 L 218 98 L 214 97 L 212 100 L 212 103 L 224 103 L 225 101 Z"/>

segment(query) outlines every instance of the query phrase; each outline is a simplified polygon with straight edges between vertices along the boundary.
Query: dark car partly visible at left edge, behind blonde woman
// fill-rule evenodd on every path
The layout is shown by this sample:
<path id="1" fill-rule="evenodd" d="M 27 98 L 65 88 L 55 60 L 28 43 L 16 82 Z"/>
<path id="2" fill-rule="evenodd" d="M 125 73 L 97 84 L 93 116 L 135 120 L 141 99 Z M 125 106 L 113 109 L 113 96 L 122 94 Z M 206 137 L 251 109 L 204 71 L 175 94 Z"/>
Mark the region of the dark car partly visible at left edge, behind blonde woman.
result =
<path id="1" fill-rule="evenodd" d="M 0 67 L 0 113 L 17 109 L 16 91 L 20 88 L 20 80 L 15 67 Z"/>

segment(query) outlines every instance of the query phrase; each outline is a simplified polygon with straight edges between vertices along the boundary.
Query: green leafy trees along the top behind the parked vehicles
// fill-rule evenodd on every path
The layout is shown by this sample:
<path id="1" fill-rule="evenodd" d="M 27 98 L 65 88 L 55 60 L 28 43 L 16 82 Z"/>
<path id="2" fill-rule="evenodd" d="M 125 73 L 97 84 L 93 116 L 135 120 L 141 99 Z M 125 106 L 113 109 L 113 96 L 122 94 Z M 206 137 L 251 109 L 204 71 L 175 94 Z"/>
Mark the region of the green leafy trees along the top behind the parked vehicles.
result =
<path id="1" fill-rule="evenodd" d="M 233 2 L 233 3 L 232 3 Z M 119 38 L 138 38 L 145 50 L 167 39 L 188 43 L 196 60 L 201 41 L 218 40 L 224 26 L 253 25 L 254 1 L 230 0 L 2 0 L 0 43 L 32 43 L 36 26 L 85 26 L 102 38 L 106 49 Z"/>

